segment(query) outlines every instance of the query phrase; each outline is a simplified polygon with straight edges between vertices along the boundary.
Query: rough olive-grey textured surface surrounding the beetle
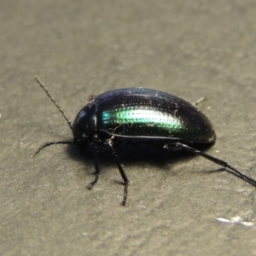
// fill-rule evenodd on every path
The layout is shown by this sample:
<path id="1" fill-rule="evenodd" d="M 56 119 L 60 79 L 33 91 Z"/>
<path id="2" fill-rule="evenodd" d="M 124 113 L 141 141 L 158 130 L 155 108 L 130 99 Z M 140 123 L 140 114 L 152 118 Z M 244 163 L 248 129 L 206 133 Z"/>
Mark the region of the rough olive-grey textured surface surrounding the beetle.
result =
<path id="1" fill-rule="evenodd" d="M 38 87 L 70 119 L 91 95 L 142 86 L 195 102 L 218 141 L 207 150 L 256 178 L 256 2 L 0 1 L 1 255 L 256 255 L 252 185 L 194 155 L 118 149 L 130 207 L 102 149 L 72 139 Z M 237 220 L 237 218 L 236 218 Z"/>

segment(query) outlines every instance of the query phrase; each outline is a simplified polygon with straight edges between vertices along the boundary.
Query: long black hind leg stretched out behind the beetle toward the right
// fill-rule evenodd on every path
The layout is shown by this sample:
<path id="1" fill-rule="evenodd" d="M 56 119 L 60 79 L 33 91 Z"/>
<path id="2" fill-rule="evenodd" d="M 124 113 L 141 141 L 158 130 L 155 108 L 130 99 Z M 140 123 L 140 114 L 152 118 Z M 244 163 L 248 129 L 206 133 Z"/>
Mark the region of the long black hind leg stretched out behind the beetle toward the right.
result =
<path id="1" fill-rule="evenodd" d="M 228 169 L 226 170 L 227 172 L 235 175 L 236 177 L 240 177 L 242 180 L 246 181 L 247 183 L 252 184 L 254 187 L 256 187 L 256 180 L 254 180 L 252 177 L 247 177 L 245 174 L 239 172 L 238 170 L 236 170 L 235 167 L 230 166 L 227 162 L 225 162 L 224 160 L 220 160 L 216 157 L 213 157 L 210 154 L 206 154 L 198 149 L 195 148 L 191 148 L 186 144 L 183 143 L 175 143 L 177 145 L 177 147 L 181 147 L 184 148 L 186 150 L 188 150 L 189 152 L 193 152 L 195 154 L 199 154 L 202 157 L 206 158 L 207 160 L 212 161 L 213 163 L 216 163 L 218 166 L 224 166 L 224 168 Z"/>

